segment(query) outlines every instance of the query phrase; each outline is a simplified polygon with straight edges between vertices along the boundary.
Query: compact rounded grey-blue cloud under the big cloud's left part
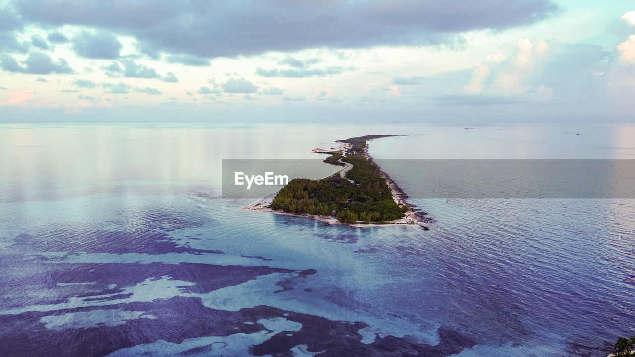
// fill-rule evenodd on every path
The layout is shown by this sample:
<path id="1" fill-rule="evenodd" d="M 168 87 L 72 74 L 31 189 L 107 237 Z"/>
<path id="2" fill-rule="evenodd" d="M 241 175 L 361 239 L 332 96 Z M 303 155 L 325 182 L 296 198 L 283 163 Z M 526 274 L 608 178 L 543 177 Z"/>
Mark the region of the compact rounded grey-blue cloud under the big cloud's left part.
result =
<path id="1" fill-rule="evenodd" d="M 83 31 L 74 36 L 72 42 L 77 55 L 86 58 L 108 60 L 119 57 L 121 51 L 117 36 L 102 30 L 95 33 Z"/>

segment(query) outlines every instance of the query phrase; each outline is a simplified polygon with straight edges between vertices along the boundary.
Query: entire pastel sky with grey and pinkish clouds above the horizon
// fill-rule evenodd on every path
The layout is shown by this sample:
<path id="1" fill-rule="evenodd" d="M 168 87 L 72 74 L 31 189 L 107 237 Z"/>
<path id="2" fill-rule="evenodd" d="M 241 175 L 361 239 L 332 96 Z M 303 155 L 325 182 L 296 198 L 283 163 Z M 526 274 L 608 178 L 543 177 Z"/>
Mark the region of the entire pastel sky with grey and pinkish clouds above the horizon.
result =
<path id="1" fill-rule="evenodd" d="M 0 0 L 0 121 L 632 123 L 635 3 Z"/>

